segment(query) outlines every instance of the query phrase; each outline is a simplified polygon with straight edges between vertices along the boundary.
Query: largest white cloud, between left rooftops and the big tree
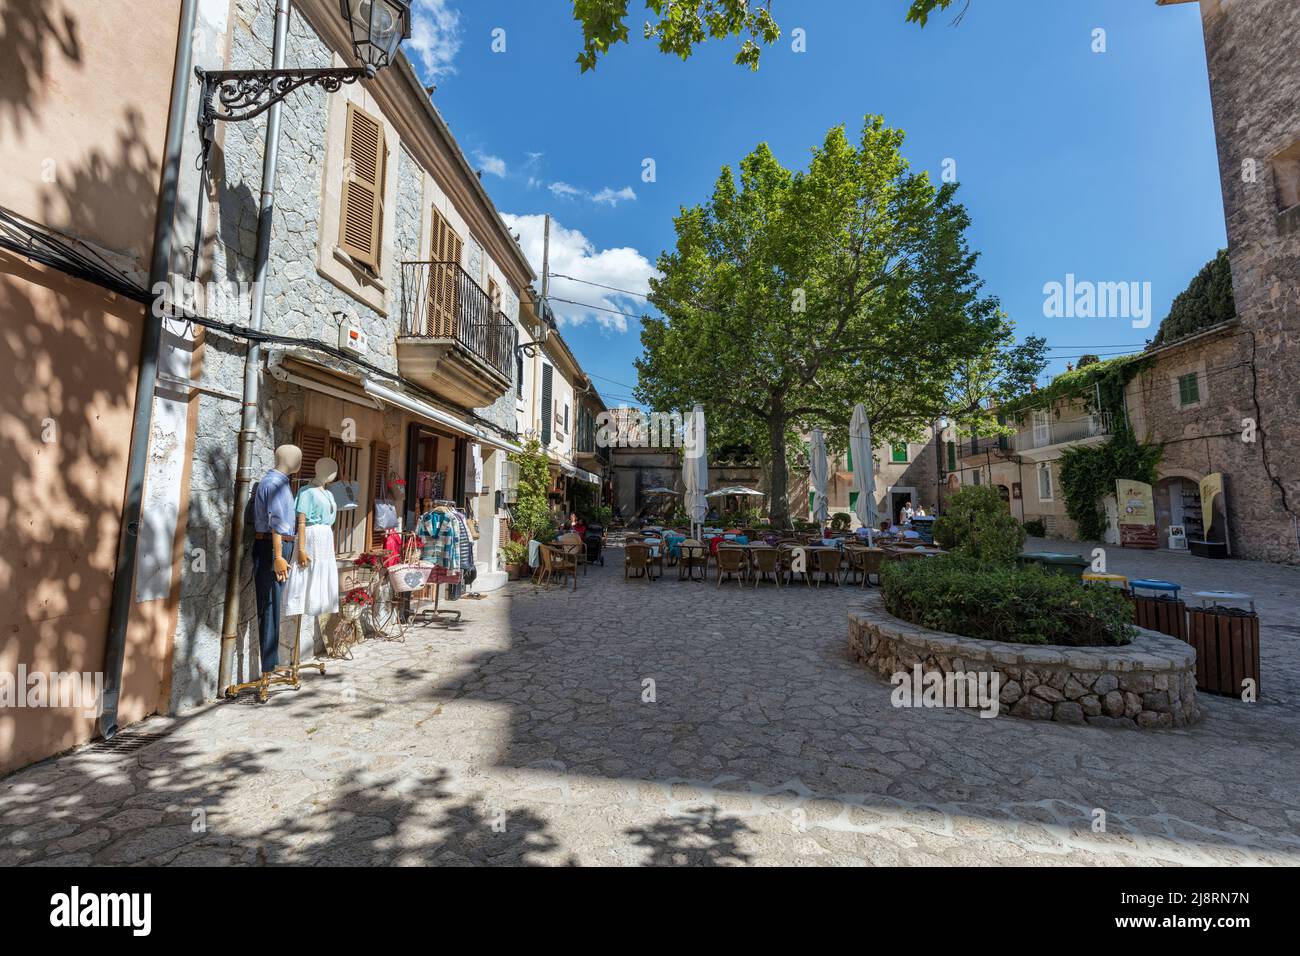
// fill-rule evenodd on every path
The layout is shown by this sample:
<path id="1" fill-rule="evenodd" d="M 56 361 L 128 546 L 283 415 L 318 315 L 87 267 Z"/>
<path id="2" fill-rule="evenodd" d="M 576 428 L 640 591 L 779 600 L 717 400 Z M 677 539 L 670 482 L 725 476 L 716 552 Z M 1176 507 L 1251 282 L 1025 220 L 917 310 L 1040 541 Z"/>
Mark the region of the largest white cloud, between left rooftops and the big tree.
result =
<path id="1" fill-rule="evenodd" d="M 519 233 L 524 255 L 532 263 L 533 271 L 542 272 L 542 234 L 545 216 L 512 216 L 502 213 L 511 232 Z M 577 229 L 566 229 L 551 220 L 551 308 L 560 325 L 581 325 L 594 319 L 601 325 L 618 332 L 628 330 L 628 316 L 640 316 L 649 306 L 642 298 L 650 291 L 650 278 L 658 276 L 650 260 L 630 247 L 597 250 L 595 245 Z M 582 282 L 568 278 L 554 278 L 555 273 L 572 276 Z M 598 285 L 588 285 L 595 282 Z M 612 286 L 641 295 L 602 289 Z M 556 302 L 555 299 L 568 299 Z M 588 308 L 572 303 L 581 302 L 599 308 Z M 601 310 L 614 310 L 627 315 L 614 315 Z"/>

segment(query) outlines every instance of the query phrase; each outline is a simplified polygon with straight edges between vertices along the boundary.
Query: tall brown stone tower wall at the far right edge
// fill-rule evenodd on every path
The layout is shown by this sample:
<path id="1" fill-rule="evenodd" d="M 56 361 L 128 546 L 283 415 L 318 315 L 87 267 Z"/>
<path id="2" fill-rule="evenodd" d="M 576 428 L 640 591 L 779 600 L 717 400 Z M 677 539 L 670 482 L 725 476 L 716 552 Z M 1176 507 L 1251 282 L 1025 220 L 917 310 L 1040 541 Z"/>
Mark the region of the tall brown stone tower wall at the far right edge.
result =
<path id="1" fill-rule="evenodd" d="M 1300 514 L 1300 204 L 1286 207 L 1283 151 L 1300 144 L 1300 4 L 1295 0 L 1202 0 L 1232 291 L 1243 349 L 1258 382 L 1247 403 L 1262 429 L 1262 454 L 1234 475 L 1238 553 L 1300 561 L 1284 512 Z M 1282 176 L 1279 177 L 1279 173 Z M 1253 339 L 1253 341 L 1252 341 Z M 1249 369 L 1242 375 L 1249 386 Z"/>

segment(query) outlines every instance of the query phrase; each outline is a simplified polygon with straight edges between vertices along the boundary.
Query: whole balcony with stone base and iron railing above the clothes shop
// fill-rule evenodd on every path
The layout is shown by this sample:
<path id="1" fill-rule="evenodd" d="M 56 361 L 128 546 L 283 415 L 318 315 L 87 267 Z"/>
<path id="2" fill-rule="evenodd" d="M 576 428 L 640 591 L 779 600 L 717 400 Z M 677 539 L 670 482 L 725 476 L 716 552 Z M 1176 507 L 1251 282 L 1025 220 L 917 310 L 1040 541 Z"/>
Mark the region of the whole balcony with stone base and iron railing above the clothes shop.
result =
<path id="1" fill-rule="evenodd" d="M 402 263 L 398 371 L 437 395 L 481 408 L 511 386 L 515 324 L 456 263 Z"/>

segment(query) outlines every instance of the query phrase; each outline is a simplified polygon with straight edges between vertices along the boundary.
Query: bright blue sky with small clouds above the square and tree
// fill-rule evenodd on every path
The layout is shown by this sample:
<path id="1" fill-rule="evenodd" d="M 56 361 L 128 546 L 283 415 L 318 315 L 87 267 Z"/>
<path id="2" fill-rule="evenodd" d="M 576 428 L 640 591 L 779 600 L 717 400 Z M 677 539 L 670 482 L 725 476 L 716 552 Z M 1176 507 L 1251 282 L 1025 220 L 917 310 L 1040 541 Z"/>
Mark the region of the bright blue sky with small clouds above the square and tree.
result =
<path id="1" fill-rule="evenodd" d="M 725 164 L 759 142 L 793 168 L 837 124 L 881 113 L 939 179 L 954 160 L 979 272 L 1018 333 L 1058 356 L 1114 352 L 1154 334 L 1169 303 L 1226 245 L 1196 4 L 972 0 L 957 26 L 904 22 L 906 0 L 775 0 L 783 29 L 757 73 L 733 40 L 682 62 L 640 36 L 595 72 L 575 64 L 567 0 L 416 0 L 407 53 L 540 272 L 644 290 L 673 243 L 672 216 L 703 202 Z M 792 30 L 806 52 L 790 48 Z M 1096 29 L 1105 52 L 1092 51 Z M 494 52 L 494 30 L 504 52 Z M 500 34 L 497 34 L 498 46 Z M 655 182 L 642 181 L 642 161 Z M 1152 325 L 1045 317 L 1044 285 L 1149 282 Z M 552 294 L 640 313 L 644 299 L 558 281 Z M 559 304 L 563 333 L 606 401 L 632 394 L 640 321 Z M 1117 349 L 1119 347 L 1119 349 Z"/>

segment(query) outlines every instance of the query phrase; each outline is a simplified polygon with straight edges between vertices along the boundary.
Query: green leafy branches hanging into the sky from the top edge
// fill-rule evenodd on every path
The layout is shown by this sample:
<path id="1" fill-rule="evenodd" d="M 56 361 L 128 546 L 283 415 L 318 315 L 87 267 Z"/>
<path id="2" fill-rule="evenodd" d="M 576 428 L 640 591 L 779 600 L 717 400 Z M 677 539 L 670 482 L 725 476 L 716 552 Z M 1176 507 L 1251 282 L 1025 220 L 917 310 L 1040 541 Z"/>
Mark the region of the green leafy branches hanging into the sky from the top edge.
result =
<path id="1" fill-rule="evenodd" d="M 963 1 L 970 4 L 970 0 Z M 956 0 L 913 0 L 907 20 L 926 26 L 931 13 L 948 9 L 953 3 Z M 772 0 L 645 0 L 645 9 L 654 17 L 645 22 L 645 38 L 656 40 L 660 52 L 675 53 L 682 60 L 710 39 L 736 36 L 744 38 L 736 62 L 757 70 L 762 48 L 781 36 L 772 18 Z M 961 14 L 957 18 L 961 20 Z M 577 64 L 584 73 L 595 69 L 599 57 L 614 44 L 628 42 L 628 0 L 573 0 L 573 20 L 582 25 Z"/>

